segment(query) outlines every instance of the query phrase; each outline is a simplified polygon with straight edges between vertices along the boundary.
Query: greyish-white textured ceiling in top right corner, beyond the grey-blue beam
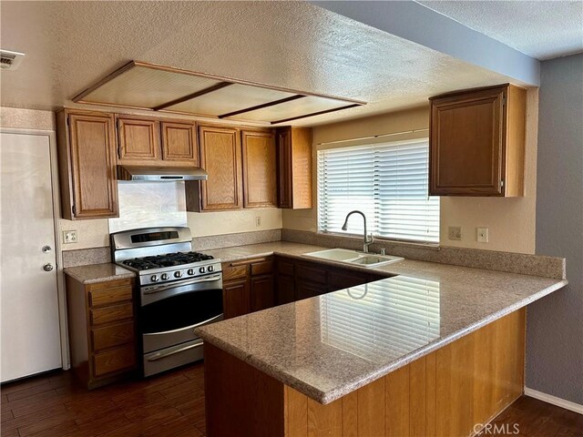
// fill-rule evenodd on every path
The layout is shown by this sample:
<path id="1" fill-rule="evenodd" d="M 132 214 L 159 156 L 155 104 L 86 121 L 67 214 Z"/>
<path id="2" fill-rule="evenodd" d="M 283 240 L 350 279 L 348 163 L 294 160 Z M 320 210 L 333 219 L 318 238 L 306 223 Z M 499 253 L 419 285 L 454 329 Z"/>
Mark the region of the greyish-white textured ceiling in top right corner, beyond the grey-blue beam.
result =
<path id="1" fill-rule="evenodd" d="M 583 52 L 583 1 L 417 2 L 537 59 Z"/>

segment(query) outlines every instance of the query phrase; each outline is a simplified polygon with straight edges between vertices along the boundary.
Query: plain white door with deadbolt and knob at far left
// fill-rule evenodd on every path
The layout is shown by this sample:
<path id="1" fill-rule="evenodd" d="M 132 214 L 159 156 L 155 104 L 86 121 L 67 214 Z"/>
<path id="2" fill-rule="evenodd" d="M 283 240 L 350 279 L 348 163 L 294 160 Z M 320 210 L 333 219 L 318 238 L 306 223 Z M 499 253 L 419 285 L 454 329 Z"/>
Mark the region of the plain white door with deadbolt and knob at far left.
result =
<path id="1" fill-rule="evenodd" d="M 50 141 L 0 133 L 0 381 L 61 367 Z"/>

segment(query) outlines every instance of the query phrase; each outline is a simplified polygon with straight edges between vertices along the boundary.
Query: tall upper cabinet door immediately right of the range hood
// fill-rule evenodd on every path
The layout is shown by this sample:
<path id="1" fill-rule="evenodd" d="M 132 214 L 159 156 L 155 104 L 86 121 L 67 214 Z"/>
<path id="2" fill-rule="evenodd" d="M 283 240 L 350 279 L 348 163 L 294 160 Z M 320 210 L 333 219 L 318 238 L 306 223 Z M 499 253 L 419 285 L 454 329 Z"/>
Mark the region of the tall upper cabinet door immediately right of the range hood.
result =
<path id="1" fill-rule="evenodd" d="M 242 207 L 239 131 L 227 127 L 199 127 L 200 167 L 208 180 L 200 181 L 202 210 Z"/>

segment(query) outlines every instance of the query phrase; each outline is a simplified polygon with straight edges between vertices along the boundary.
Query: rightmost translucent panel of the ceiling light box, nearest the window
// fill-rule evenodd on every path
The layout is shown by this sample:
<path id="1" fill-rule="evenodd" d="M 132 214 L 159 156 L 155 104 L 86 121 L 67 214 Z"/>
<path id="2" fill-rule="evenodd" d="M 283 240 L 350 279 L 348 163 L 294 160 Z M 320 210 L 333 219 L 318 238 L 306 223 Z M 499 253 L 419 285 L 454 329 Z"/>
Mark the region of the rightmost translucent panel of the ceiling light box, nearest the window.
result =
<path id="1" fill-rule="evenodd" d="M 267 121 L 274 122 L 287 120 L 288 118 L 302 117 L 321 111 L 346 107 L 352 102 L 337 100 L 335 98 L 307 96 L 297 100 L 281 103 L 272 107 L 263 107 L 254 111 L 238 114 L 229 119 L 243 121 Z"/>

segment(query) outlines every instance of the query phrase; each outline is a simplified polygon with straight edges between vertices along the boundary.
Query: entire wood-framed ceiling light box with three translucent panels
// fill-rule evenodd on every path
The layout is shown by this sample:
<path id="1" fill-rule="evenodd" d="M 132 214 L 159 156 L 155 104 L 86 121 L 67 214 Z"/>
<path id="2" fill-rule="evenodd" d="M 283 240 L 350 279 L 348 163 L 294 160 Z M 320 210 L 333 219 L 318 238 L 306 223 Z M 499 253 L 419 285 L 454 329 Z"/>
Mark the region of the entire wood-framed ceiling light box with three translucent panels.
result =
<path id="1" fill-rule="evenodd" d="M 232 120 L 282 123 L 365 102 L 131 61 L 74 102 Z"/>

